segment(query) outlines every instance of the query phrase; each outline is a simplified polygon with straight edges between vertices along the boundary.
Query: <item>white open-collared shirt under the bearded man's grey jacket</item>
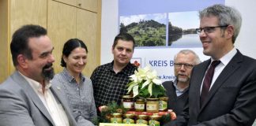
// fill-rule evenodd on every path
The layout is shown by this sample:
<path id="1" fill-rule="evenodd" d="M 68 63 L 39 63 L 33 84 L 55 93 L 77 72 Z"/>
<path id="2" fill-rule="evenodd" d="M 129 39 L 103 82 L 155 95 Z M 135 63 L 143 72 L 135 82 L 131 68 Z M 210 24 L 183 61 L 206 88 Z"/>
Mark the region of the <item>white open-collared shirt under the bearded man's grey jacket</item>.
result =
<path id="1" fill-rule="evenodd" d="M 21 72 L 20 72 L 21 73 Z M 52 94 L 50 87 L 51 83 L 45 83 L 44 91 L 42 90 L 42 84 L 39 82 L 24 76 L 25 80 L 28 81 L 30 86 L 36 92 L 36 95 L 43 102 L 43 105 L 47 108 L 48 113 L 50 113 L 52 120 L 54 121 L 56 126 L 69 126 L 69 120 L 66 116 L 66 113 L 61 104 L 58 104 L 55 100 L 54 95 Z M 43 93 L 44 92 L 44 93 Z"/>

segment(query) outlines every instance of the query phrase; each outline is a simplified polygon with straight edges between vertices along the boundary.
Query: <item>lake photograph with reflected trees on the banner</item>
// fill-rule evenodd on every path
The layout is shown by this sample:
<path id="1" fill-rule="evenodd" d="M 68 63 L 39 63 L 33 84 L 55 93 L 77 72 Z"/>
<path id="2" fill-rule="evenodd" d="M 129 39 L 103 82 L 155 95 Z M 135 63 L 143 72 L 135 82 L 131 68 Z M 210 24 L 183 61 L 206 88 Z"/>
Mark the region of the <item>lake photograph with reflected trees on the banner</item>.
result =
<path id="1" fill-rule="evenodd" d="M 198 11 L 168 13 L 168 46 L 201 47 Z"/>

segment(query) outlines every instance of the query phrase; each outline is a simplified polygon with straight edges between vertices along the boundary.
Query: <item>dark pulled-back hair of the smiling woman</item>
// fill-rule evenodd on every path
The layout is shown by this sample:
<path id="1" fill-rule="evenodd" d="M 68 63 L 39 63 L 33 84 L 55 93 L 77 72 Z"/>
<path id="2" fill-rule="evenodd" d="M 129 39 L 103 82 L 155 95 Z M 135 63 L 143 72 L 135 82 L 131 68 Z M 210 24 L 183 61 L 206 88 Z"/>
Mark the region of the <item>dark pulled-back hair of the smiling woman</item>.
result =
<path id="1" fill-rule="evenodd" d="M 63 56 L 69 57 L 71 52 L 77 47 L 84 48 L 86 53 L 88 53 L 87 46 L 83 41 L 81 41 L 80 39 L 69 39 L 68 41 L 66 41 L 66 43 L 63 46 L 62 61 L 61 61 L 62 67 L 66 67 L 66 62 L 64 61 Z"/>

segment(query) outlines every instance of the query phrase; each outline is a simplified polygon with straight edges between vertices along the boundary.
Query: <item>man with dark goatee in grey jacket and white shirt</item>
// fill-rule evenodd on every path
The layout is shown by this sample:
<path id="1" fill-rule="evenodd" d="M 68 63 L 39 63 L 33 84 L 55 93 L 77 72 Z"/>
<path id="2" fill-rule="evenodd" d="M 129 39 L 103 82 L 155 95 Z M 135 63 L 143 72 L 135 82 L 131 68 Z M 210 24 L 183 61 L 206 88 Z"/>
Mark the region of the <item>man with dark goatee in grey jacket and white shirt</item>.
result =
<path id="1" fill-rule="evenodd" d="M 45 28 L 24 25 L 10 44 L 16 71 L 0 84 L 0 126 L 73 126 L 66 98 L 51 86 L 54 47 Z"/>

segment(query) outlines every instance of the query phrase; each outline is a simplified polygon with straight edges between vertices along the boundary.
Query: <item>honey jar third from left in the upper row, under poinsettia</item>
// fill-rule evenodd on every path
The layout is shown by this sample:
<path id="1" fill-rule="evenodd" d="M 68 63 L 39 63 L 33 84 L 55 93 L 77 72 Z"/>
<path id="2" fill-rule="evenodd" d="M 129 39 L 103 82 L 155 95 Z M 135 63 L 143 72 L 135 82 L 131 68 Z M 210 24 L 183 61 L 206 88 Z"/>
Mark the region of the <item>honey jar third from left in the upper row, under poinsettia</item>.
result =
<path id="1" fill-rule="evenodd" d="M 159 98 L 147 98 L 146 111 L 150 113 L 158 113 Z"/>

